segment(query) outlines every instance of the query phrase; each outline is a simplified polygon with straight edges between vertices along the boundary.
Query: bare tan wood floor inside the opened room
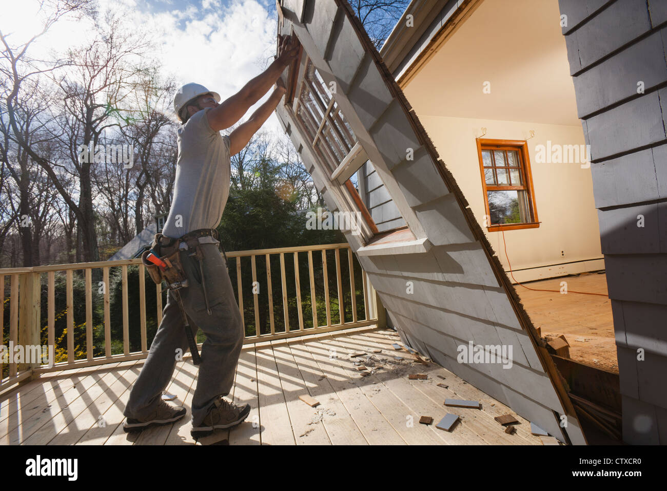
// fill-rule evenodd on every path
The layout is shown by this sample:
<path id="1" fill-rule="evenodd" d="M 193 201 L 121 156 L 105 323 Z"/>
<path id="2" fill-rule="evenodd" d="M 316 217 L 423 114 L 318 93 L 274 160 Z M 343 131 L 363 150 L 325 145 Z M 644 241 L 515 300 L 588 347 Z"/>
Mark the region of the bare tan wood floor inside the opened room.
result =
<path id="1" fill-rule="evenodd" d="M 568 293 L 560 293 L 561 283 Z M 556 290 L 558 293 L 531 291 L 514 285 L 535 327 L 542 336 L 564 334 L 570 343 L 570 357 L 618 373 L 612 303 L 608 297 L 582 295 L 573 291 L 607 294 L 607 277 L 588 273 L 526 283 L 532 289 Z"/>

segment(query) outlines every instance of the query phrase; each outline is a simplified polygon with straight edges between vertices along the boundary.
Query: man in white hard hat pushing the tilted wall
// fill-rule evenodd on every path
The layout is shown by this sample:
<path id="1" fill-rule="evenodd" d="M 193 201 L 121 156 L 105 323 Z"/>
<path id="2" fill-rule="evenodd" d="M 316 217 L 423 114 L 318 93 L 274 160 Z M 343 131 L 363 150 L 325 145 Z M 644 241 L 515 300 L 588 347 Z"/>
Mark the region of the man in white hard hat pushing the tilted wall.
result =
<path id="1" fill-rule="evenodd" d="M 183 86 L 174 97 L 174 110 L 182 123 L 176 179 L 163 236 L 158 234 L 153 244 L 161 256 L 176 253 L 180 259 L 187 287 L 176 295 L 195 334 L 199 328 L 206 335 L 192 399 L 193 438 L 239 424 L 250 412 L 249 405 L 239 407 L 224 398 L 233 385 L 245 333 L 215 228 L 229 195 L 229 157 L 247 145 L 275 110 L 285 93 L 279 76 L 297 53 L 295 41 L 282 37 L 273 63 L 222 104 L 218 104 L 218 94 L 199 84 Z M 247 122 L 228 137 L 219 134 L 241 119 L 273 84 L 273 94 Z M 186 414 L 184 407 L 174 407 L 161 398 L 179 355 L 188 347 L 177 300 L 170 290 L 162 322 L 125 407 L 126 432 L 175 422 Z"/>

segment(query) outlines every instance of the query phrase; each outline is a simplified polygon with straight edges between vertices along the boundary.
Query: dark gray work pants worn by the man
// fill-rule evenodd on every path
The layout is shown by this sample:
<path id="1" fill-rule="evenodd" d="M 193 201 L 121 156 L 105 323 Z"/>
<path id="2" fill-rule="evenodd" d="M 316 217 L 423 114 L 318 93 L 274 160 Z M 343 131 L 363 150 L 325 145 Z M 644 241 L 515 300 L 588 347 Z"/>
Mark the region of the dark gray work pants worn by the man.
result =
<path id="1" fill-rule="evenodd" d="M 245 330 L 241 313 L 231 288 L 229 273 L 216 244 L 201 244 L 203 273 L 211 315 L 207 313 L 199 263 L 189 257 L 193 251 L 181 251 L 181 262 L 188 287 L 181 288 L 183 307 L 190 327 L 206 335 L 201 347 L 201 364 L 197 388 L 192 399 L 192 425 L 199 426 L 220 395 L 227 395 L 234 382 L 236 365 L 243 346 Z M 142 420 L 148 418 L 160 403 L 161 394 L 171 380 L 177 361 L 177 350 L 188 349 L 183 317 L 171 291 L 148 357 L 135 381 L 124 415 Z"/>

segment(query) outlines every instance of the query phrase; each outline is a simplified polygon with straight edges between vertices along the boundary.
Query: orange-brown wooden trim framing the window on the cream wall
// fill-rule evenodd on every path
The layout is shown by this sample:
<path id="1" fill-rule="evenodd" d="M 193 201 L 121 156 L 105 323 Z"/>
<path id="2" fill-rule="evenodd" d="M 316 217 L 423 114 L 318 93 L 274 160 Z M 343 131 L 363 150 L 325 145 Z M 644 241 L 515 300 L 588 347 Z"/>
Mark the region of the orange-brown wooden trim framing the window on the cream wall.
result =
<path id="1" fill-rule="evenodd" d="M 535 187 L 533 185 L 533 174 L 530 170 L 530 159 L 528 158 L 528 142 L 526 140 L 492 140 L 490 138 L 477 138 L 477 158 L 480 162 L 480 177 L 482 178 L 482 194 L 484 195 L 484 209 L 486 216 L 491 217 L 489 209 L 489 199 L 487 194 L 486 178 L 484 176 L 484 159 L 482 158 L 482 147 L 492 148 L 493 150 L 519 150 L 521 154 L 522 170 L 524 171 L 524 186 L 493 186 L 494 190 L 526 190 L 530 196 L 532 205 L 533 221 L 527 223 L 511 224 L 489 224 L 486 229 L 489 232 L 500 232 L 500 230 L 518 230 L 520 228 L 538 228 L 540 219 L 538 218 L 538 208 L 535 198 Z"/>

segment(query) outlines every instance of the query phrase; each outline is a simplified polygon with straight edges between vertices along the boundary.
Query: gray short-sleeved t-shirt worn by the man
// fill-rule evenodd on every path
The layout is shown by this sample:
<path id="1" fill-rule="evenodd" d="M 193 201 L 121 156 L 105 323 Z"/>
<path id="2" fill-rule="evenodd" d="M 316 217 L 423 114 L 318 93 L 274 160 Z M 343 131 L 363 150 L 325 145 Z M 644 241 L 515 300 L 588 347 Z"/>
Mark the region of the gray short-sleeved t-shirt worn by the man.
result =
<path id="1" fill-rule="evenodd" d="M 198 228 L 215 228 L 229 197 L 229 137 L 208 124 L 205 108 L 178 129 L 173 200 L 162 233 L 177 238 Z"/>

